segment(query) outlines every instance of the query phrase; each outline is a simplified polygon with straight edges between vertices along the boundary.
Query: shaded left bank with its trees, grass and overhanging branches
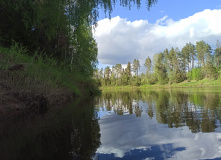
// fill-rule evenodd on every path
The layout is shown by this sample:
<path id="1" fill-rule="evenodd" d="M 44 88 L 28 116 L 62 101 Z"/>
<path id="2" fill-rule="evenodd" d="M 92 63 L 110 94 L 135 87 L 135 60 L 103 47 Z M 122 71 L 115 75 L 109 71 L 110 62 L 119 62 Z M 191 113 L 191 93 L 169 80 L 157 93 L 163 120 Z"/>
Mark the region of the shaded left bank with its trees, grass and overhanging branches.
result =
<path id="1" fill-rule="evenodd" d="M 147 10 L 156 2 L 146 0 Z M 0 0 L 1 113 L 99 92 L 92 31 L 99 12 L 111 18 L 116 4 L 139 8 L 141 1 Z"/>

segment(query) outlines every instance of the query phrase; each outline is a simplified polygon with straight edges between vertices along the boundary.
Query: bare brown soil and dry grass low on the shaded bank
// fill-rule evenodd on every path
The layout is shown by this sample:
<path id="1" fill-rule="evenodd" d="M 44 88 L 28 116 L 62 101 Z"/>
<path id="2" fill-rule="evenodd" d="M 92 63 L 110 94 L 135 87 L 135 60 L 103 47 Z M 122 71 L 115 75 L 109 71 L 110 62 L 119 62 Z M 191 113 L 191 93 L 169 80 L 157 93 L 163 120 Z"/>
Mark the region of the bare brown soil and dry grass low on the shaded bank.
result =
<path id="1" fill-rule="evenodd" d="M 17 69 L 16 69 L 17 67 Z M 59 90 L 51 94 L 35 92 L 33 88 L 20 89 L 13 85 L 19 79 L 19 71 L 24 65 L 14 65 L 7 70 L 0 69 L 0 119 L 17 117 L 24 112 L 44 112 L 49 106 L 59 105 L 71 101 L 74 97 L 71 92 Z M 13 73 L 12 73 L 13 72 Z M 12 78 L 15 78 L 12 83 Z M 21 76 L 21 78 L 24 78 Z"/>

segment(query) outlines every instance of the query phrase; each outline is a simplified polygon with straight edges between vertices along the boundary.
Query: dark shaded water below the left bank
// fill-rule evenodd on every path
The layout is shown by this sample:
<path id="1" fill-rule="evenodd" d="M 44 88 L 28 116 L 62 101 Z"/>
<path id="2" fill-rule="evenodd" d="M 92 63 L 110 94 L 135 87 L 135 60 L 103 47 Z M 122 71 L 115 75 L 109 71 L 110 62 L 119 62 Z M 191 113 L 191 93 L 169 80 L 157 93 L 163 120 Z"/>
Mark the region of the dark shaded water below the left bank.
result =
<path id="1" fill-rule="evenodd" d="M 0 122 L 2 160 L 87 160 L 99 146 L 92 99 Z"/>

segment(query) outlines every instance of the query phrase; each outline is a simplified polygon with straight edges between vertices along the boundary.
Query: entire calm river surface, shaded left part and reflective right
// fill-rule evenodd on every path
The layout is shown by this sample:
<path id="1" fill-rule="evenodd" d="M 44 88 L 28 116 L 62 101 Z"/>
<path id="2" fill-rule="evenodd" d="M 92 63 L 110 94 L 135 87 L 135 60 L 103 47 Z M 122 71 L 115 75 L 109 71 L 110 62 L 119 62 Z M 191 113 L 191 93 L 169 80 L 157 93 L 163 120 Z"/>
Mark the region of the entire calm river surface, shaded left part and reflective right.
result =
<path id="1" fill-rule="evenodd" d="M 221 159 L 221 90 L 103 92 L 0 122 L 0 160 Z"/>

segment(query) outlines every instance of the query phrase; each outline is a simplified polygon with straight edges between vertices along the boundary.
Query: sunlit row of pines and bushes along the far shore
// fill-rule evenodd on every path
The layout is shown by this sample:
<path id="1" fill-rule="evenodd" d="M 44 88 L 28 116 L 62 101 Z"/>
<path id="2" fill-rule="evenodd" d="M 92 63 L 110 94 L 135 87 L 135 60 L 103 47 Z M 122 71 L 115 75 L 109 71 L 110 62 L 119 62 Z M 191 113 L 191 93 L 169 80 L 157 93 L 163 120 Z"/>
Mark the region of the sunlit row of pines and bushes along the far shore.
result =
<path id="1" fill-rule="evenodd" d="M 138 74 L 140 62 L 134 59 L 127 67 L 116 64 L 110 68 L 96 69 L 94 79 L 100 86 L 173 84 L 183 81 L 218 79 L 221 71 L 221 43 L 213 51 L 205 41 L 196 44 L 186 43 L 178 48 L 165 49 L 157 53 L 153 59 L 148 56 L 144 66 L 146 73 Z"/>

